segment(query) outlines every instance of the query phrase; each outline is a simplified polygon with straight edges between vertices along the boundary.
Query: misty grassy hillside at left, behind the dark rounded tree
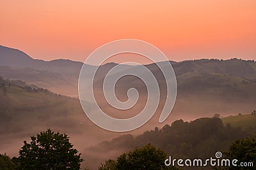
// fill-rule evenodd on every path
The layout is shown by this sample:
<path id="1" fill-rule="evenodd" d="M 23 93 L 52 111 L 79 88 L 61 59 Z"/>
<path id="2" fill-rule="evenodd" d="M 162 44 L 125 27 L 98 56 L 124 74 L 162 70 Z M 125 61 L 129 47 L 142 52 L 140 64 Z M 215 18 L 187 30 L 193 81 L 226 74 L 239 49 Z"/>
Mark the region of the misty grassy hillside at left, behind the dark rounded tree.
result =
<path id="1" fill-rule="evenodd" d="M 118 136 L 100 132 L 84 115 L 78 99 L 54 94 L 24 81 L 0 77 L 0 108 L 0 153 L 10 156 L 18 154 L 23 140 L 48 128 L 70 134 L 79 150 Z"/>

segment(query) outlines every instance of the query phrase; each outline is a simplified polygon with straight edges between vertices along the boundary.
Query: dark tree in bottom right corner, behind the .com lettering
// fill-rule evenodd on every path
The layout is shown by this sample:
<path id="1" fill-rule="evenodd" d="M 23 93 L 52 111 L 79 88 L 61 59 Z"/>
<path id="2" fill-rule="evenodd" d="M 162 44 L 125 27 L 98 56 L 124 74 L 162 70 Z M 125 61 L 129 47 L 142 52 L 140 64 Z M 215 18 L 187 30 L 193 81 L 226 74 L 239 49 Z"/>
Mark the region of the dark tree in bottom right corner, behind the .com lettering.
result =
<path id="1" fill-rule="evenodd" d="M 230 148 L 225 152 L 225 159 L 237 159 L 239 162 L 253 162 L 256 164 L 256 136 L 253 138 L 244 138 L 234 141 Z M 237 162 L 237 164 L 239 164 Z M 231 167 L 234 169 L 234 167 Z M 243 169 L 243 167 L 236 167 Z"/>

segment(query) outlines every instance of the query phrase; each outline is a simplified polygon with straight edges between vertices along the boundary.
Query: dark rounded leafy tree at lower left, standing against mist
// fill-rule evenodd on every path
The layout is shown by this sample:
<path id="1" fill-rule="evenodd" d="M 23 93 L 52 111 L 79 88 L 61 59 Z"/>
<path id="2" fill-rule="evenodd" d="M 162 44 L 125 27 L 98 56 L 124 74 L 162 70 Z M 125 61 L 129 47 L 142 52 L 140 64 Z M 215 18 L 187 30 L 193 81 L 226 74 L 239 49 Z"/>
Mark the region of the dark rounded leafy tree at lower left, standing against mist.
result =
<path id="1" fill-rule="evenodd" d="M 67 134 L 51 129 L 31 136 L 19 150 L 20 169 L 80 169 L 81 153 L 73 148 Z"/>

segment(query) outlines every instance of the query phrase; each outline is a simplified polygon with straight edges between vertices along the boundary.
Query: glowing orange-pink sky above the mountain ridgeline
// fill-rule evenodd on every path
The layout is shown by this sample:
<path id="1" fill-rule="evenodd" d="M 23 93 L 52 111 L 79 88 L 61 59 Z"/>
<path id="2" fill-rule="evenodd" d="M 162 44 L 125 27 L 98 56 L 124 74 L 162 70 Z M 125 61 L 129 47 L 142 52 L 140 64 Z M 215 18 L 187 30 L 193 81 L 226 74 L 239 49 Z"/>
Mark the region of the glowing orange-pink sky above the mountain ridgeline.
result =
<path id="1" fill-rule="evenodd" d="M 169 60 L 255 60 L 256 1 L 0 1 L 0 45 L 34 59 L 83 62 L 124 38 L 152 43 Z"/>

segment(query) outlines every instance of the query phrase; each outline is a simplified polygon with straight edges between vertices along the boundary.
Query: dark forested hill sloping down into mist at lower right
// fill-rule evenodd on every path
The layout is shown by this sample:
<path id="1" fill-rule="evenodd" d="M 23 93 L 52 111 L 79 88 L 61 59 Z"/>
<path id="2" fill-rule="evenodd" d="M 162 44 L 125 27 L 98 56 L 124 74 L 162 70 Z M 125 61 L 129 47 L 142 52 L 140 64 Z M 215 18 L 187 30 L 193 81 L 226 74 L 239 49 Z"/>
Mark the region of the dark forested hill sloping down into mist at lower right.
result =
<path id="1" fill-rule="evenodd" d="M 239 115 L 256 120 L 256 115 Z M 171 125 L 164 125 L 159 129 L 146 131 L 139 136 L 125 134 L 111 141 L 104 141 L 97 146 L 87 148 L 84 152 L 98 152 L 104 154 L 113 152 L 127 152 L 136 146 L 142 147 L 150 143 L 162 148 L 172 158 L 209 158 L 216 152 L 224 152 L 230 143 L 236 139 L 252 137 L 256 134 L 256 125 L 245 128 L 233 125 L 234 122 L 223 124 L 220 118 L 198 118 L 191 122 L 177 120 Z M 120 153 L 122 153 L 120 152 Z M 100 153 L 102 154 L 102 153 Z M 93 158 L 92 158 L 93 159 Z M 115 157 L 111 157 L 115 159 Z"/>

